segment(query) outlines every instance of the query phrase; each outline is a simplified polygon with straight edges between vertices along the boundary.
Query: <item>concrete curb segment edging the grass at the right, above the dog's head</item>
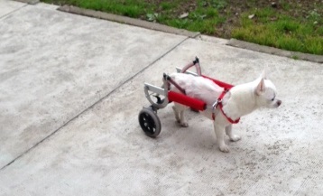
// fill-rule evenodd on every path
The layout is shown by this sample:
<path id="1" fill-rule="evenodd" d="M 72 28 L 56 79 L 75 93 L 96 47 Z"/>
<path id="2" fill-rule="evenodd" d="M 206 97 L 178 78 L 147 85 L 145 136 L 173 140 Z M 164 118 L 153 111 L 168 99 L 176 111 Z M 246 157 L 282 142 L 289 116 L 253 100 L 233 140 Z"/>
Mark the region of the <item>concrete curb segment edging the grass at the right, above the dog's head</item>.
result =
<path id="1" fill-rule="evenodd" d="M 289 57 L 291 59 L 313 61 L 318 63 L 323 63 L 323 56 L 315 54 L 301 53 L 298 51 L 284 51 L 277 48 L 272 48 L 269 46 L 258 45 L 252 42 L 244 42 L 240 40 L 231 39 L 226 45 L 234 46 L 237 48 L 243 48 L 251 51 L 260 51 L 263 53 L 274 54 L 283 57 Z"/>

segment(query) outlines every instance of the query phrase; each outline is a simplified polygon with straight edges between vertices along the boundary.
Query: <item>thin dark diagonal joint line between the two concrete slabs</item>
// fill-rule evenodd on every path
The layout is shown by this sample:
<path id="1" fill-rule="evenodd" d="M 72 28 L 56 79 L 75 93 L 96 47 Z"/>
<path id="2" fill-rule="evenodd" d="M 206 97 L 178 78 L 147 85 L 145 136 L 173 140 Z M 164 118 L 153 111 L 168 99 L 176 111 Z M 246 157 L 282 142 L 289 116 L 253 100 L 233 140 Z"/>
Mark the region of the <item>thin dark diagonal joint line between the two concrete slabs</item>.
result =
<path id="1" fill-rule="evenodd" d="M 150 64 L 148 64 L 146 67 L 144 67 L 142 70 L 139 70 L 138 72 L 136 72 L 132 77 L 130 77 L 129 79 L 125 79 L 124 82 L 122 82 L 119 86 L 115 87 L 115 89 L 111 90 L 109 93 L 106 94 L 106 96 L 99 98 L 96 102 L 94 102 L 91 106 L 85 108 L 83 111 L 81 111 L 80 113 L 78 113 L 78 115 L 76 115 L 75 117 L 70 118 L 66 123 L 64 123 L 62 126 L 60 126 L 59 128 L 57 128 L 55 131 L 53 131 L 50 135 L 45 136 L 41 141 L 39 141 L 38 143 L 36 143 L 35 145 L 33 145 L 31 148 L 27 149 L 26 151 L 23 152 L 23 154 L 18 155 L 17 157 L 14 158 L 14 160 L 12 160 L 10 163 L 5 164 L 5 166 L 3 166 L 0 171 L 2 171 L 3 169 L 5 169 L 6 167 L 8 167 L 10 164 L 14 163 L 16 160 L 18 160 L 19 158 L 23 157 L 24 154 L 28 154 L 30 151 L 32 151 L 32 149 L 36 148 L 38 145 L 41 145 L 42 142 L 44 142 L 45 140 L 47 140 L 48 138 L 50 138 L 52 135 L 55 135 L 56 133 L 58 133 L 60 131 L 61 128 L 68 126 L 70 122 L 72 122 L 73 120 L 77 119 L 78 117 L 80 117 L 82 114 L 86 113 L 89 109 L 95 107 L 98 103 L 102 102 L 105 98 L 108 98 L 110 95 L 112 95 L 113 93 L 115 93 L 115 91 L 117 89 L 120 89 L 121 87 L 123 87 L 126 83 L 128 83 L 131 79 L 134 79 L 136 76 L 138 76 L 140 73 L 142 73 L 144 70 L 147 70 L 148 68 L 152 67 L 152 65 L 161 60 L 164 56 L 166 56 L 168 53 L 170 53 L 171 51 L 173 51 L 175 48 L 177 48 L 178 46 L 180 46 L 180 44 L 182 42 L 185 42 L 189 39 L 189 37 L 183 39 L 182 41 L 180 41 L 179 43 L 177 43 L 175 46 L 171 47 L 171 49 L 169 51 L 166 51 L 165 53 L 163 53 L 160 57 L 158 57 L 156 60 L 152 61 Z"/>

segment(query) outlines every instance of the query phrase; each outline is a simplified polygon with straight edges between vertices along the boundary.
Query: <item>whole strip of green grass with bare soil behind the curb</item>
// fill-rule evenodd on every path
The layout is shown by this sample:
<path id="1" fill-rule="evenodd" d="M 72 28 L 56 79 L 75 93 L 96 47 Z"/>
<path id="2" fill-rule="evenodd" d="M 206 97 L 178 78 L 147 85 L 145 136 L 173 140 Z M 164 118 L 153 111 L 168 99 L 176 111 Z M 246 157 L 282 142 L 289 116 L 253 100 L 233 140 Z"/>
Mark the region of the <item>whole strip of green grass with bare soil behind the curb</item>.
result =
<path id="1" fill-rule="evenodd" d="M 308 2 L 305 6 L 290 1 L 277 0 L 278 9 L 268 5 L 267 0 L 43 0 L 323 55 L 323 5 Z M 188 15 L 180 18 L 182 14 Z M 249 18 L 252 14 L 254 17 Z"/>

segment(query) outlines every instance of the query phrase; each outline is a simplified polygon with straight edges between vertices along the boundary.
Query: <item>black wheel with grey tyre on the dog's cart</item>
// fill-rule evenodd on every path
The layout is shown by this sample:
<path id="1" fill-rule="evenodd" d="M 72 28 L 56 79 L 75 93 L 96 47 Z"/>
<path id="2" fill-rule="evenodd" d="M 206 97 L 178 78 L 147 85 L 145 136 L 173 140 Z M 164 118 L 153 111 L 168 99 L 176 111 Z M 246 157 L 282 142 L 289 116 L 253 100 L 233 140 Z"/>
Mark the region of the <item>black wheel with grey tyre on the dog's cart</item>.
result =
<path id="1" fill-rule="evenodd" d="M 156 137 L 161 133 L 162 125 L 160 118 L 152 108 L 143 107 L 138 116 L 139 124 L 142 126 L 145 135 Z"/>

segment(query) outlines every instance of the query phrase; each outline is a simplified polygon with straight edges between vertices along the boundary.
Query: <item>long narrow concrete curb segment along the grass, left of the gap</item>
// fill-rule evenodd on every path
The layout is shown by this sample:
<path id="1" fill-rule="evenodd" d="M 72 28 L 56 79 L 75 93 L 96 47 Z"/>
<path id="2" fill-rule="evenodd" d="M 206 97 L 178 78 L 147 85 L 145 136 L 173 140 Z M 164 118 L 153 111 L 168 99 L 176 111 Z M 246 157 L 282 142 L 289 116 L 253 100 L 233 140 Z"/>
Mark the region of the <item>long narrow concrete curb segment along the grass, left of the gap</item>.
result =
<path id="1" fill-rule="evenodd" d="M 139 19 L 134 19 L 134 18 L 130 18 L 130 17 L 122 16 L 122 15 L 107 14 L 107 13 L 98 12 L 98 11 L 94 11 L 94 10 L 79 8 L 76 6 L 63 5 L 63 6 L 60 6 L 58 8 L 58 10 L 60 10 L 62 12 L 66 12 L 66 13 L 80 14 L 80 15 L 85 15 L 85 16 L 89 16 L 89 17 L 113 21 L 113 22 L 117 22 L 117 23 L 130 24 L 130 25 L 139 26 L 139 27 L 143 27 L 146 29 L 151 29 L 151 30 L 155 30 L 155 31 L 165 32 L 165 33 L 180 34 L 180 35 L 187 36 L 190 38 L 195 38 L 200 34 L 198 32 L 189 32 L 184 29 L 177 29 L 174 27 L 160 24 L 160 23 L 151 23 L 151 22 L 147 22 L 147 21 L 143 21 L 143 20 L 139 20 Z"/>

